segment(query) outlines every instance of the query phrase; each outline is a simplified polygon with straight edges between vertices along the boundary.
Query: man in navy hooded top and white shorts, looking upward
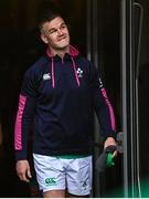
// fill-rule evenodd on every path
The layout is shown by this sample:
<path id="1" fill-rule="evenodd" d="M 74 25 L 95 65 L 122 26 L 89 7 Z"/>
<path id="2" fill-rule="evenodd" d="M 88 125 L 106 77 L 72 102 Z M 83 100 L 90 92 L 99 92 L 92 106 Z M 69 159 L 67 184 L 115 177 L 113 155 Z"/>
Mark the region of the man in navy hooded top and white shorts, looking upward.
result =
<path id="1" fill-rule="evenodd" d="M 33 160 L 43 197 L 87 197 L 94 111 L 107 147 L 116 145 L 113 108 L 95 66 L 70 44 L 63 18 L 49 11 L 39 27 L 47 50 L 24 74 L 15 121 L 17 174 L 30 181 L 26 149 L 33 128 Z"/>

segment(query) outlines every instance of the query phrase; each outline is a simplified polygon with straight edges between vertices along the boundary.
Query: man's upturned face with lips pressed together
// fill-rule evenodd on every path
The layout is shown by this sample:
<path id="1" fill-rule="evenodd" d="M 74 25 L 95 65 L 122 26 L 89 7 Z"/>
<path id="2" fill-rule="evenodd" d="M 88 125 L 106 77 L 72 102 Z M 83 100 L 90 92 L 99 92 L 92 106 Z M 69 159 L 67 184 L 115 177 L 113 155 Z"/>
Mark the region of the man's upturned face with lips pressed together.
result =
<path id="1" fill-rule="evenodd" d="M 65 50 L 70 45 L 68 29 L 61 17 L 56 17 L 42 25 L 41 39 L 51 51 Z"/>

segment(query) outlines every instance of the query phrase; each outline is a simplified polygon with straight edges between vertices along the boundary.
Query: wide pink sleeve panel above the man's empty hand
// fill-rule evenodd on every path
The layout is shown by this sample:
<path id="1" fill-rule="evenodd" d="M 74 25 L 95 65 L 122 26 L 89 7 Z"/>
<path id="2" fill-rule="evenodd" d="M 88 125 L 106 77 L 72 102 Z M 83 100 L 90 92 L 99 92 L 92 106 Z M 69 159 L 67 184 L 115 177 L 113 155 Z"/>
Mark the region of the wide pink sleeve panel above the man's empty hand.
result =
<path id="1" fill-rule="evenodd" d="M 15 127 L 14 127 L 14 148 L 15 150 L 22 149 L 22 115 L 24 111 L 26 96 L 20 95 L 19 98 L 19 108 L 17 113 L 17 121 L 15 121 Z"/>

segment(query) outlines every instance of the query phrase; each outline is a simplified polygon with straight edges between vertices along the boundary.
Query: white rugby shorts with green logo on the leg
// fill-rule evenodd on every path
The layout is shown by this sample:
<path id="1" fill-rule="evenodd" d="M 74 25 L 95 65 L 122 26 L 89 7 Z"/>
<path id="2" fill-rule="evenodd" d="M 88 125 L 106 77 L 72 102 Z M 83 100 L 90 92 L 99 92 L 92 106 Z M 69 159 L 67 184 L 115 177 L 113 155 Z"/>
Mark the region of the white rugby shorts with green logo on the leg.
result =
<path id="1" fill-rule="evenodd" d="M 92 156 L 64 159 L 33 154 L 40 189 L 67 190 L 72 195 L 86 196 L 92 190 Z"/>

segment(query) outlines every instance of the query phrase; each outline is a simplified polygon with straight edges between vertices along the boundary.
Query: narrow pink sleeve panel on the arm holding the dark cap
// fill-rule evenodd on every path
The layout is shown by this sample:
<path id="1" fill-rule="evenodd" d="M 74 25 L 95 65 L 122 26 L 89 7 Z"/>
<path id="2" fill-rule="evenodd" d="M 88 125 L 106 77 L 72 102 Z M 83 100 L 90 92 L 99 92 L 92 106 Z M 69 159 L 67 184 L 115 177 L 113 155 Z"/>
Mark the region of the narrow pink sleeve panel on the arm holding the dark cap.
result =
<path id="1" fill-rule="evenodd" d="M 110 121 L 111 121 L 111 128 L 113 128 L 113 130 L 116 130 L 115 115 L 114 115 L 114 111 L 113 111 L 111 104 L 110 104 L 110 102 L 109 102 L 109 100 L 108 100 L 108 97 L 107 97 L 106 90 L 105 90 L 105 88 L 102 88 L 100 91 L 102 91 L 103 96 L 104 96 L 105 100 L 106 100 L 106 104 L 108 105 L 108 108 L 109 108 Z"/>

